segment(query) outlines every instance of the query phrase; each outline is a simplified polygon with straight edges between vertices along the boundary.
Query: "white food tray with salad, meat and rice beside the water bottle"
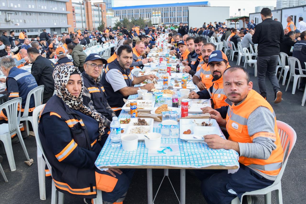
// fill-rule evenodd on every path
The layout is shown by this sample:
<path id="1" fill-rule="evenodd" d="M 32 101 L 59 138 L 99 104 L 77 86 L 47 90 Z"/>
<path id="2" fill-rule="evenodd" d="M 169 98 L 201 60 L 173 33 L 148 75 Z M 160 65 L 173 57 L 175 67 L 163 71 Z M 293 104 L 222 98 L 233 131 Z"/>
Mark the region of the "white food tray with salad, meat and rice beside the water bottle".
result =
<path id="1" fill-rule="evenodd" d="M 121 118 L 119 119 L 120 120 L 124 120 L 125 118 Z M 123 129 L 124 132 L 121 133 L 121 135 L 124 135 L 124 134 L 134 134 L 134 133 L 131 133 L 131 130 L 134 129 L 134 128 L 138 128 L 138 127 L 144 127 L 148 130 L 148 133 L 151 133 L 153 132 L 153 123 L 154 123 L 154 119 L 152 118 L 142 118 L 142 119 L 145 119 L 145 121 L 149 124 L 149 125 L 134 125 L 134 123 L 137 123 L 137 118 L 131 118 L 131 121 L 129 124 L 120 124 L 121 125 L 121 130 Z M 138 136 L 138 140 L 144 140 L 144 135 L 145 134 L 135 134 Z"/>

